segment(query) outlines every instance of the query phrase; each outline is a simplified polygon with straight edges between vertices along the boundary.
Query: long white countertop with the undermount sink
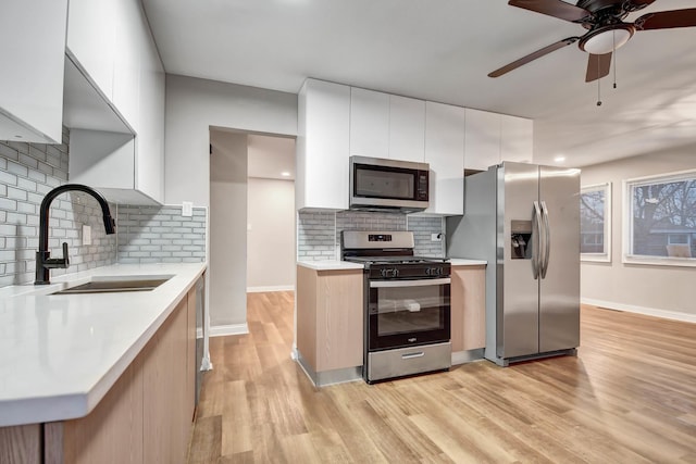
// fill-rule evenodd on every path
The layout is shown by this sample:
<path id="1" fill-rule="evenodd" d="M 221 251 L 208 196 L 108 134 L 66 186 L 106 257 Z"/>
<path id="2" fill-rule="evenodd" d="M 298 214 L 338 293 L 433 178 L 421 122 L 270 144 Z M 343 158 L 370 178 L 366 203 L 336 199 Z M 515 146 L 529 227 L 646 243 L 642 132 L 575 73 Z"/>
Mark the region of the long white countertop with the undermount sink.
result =
<path id="1" fill-rule="evenodd" d="M 89 414 L 204 269 L 116 264 L 0 289 L 0 426 Z M 173 277 L 151 291 L 46 294 L 91 276 L 130 275 Z"/>

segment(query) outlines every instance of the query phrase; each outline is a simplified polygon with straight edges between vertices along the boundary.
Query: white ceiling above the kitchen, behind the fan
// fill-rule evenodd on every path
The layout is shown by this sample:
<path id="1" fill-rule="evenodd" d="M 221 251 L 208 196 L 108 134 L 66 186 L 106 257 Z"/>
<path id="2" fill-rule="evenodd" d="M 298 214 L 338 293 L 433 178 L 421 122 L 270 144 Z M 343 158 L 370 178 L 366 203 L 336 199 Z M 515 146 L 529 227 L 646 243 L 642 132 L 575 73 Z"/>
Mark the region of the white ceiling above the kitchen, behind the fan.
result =
<path id="1" fill-rule="evenodd" d="M 570 1 L 569 1 L 570 3 Z M 696 27 L 638 32 L 586 84 L 580 25 L 505 0 L 144 0 L 167 73 L 297 93 L 307 77 L 535 120 L 535 161 L 582 166 L 696 143 Z M 694 8 L 657 0 L 650 12 Z"/>

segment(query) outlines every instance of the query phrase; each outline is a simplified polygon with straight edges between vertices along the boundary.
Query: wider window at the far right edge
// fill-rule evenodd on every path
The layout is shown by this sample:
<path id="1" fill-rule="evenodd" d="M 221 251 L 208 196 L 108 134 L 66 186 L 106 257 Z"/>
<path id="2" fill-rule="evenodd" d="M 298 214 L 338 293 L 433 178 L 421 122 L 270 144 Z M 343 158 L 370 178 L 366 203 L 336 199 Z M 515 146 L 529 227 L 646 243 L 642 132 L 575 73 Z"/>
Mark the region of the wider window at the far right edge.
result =
<path id="1" fill-rule="evenodd" d="M 624 186 L 624 262 L 696 266 L 696 171 Z"/>

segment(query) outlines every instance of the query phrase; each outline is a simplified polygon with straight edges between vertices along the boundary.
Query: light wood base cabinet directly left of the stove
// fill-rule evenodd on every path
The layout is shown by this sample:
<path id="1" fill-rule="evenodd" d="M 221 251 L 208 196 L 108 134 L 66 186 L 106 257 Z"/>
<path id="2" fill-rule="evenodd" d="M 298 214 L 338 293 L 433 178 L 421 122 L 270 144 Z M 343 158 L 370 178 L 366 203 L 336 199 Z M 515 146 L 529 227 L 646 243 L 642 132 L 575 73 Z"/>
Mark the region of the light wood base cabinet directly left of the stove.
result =
<path id="1" fill-rule="evenodd" d="M 362 269 L 297 266 L 297 350 L 315 372 L 362 365 Z"/>

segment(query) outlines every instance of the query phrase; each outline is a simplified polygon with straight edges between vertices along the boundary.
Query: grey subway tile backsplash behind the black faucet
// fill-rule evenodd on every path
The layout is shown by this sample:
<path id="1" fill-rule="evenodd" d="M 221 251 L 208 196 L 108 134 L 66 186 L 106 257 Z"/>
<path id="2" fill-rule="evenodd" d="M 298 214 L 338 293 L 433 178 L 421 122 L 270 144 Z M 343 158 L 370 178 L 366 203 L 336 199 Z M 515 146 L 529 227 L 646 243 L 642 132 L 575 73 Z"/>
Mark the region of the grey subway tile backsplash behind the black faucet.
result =
<path id="1" fill-rule="evenodd" d="M 39 206 L 46 193 L 69 180 L 70 133 L 62 145 L 0 141 L 0 287 L 34 281 Z M 181 206 L 111 205 L 116 236 L 107 236 L 101 209 L 90 196 L 67 192 L 50 210 L 49 248 L 62 254 L 69 243 L 71 266 L 58 276 L 122 263 L 181 263 L 206 260 L 207 210 L 182 217 Z M 92 244 L 82 244 L 82 226 L 91 226 Z M 133 239 L 133 240 L 130 240 Z M 171 250 L 163 251 L 163 247 Z M 176 255 L 175 255 L 176 253 Z"/>

